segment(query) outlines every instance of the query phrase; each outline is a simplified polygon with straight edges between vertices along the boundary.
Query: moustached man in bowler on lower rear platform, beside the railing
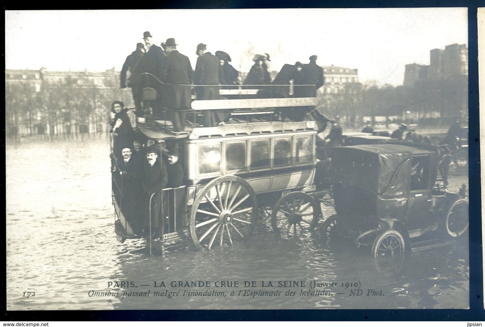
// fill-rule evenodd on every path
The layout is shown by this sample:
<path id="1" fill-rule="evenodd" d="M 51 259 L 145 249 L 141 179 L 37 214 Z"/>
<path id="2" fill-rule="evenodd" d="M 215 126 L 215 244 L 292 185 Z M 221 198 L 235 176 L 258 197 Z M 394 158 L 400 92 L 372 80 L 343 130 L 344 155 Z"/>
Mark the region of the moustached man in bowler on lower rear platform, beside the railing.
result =
<path id="1" fill-rule="evenodd" d="M 162 191 L 167 186 L 167 169 L 162 160 L 158 159 L 158 153 L 155 146 L 148 147 L 146 150 L 146 161 L 143 168 L 142 186 L 145 194 L 145 232 L 148 231 L 150 209 L 151 209 L 151 230 L 152 236 L 160 233 L 161 227 L 161 209 L 162 209 Z M 150 196 L 155 195 L 152 198 L 150 208 Z"/>

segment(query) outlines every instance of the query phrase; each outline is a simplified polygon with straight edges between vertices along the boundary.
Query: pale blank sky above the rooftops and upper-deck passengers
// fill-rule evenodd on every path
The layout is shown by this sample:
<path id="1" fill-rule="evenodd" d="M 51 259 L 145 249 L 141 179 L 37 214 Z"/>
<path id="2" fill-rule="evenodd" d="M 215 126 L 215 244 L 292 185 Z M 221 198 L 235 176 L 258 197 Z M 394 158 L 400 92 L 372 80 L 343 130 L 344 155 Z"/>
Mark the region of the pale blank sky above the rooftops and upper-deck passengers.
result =
<path id="1" fill-rule="evenodd" d="M 6 11 L 5 68 L 121 70 L 143 42 L 174 37 L 195 67 L 197 44 L 249 71 L 255 53 L 271 70 L 317 55 L 321 66 L 357 68 L 360 82 L 402 85 L 404 65 L 429 51 L 468 45 L 467 8 Z"/>

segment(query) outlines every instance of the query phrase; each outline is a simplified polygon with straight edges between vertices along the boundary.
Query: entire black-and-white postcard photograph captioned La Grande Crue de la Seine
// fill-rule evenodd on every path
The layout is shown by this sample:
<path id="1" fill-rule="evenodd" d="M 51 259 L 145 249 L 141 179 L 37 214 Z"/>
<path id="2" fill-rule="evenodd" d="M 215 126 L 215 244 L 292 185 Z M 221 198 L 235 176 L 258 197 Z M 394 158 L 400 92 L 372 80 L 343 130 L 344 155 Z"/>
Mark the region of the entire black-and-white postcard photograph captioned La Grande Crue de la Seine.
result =
<path id="1" fill-rule="evenodd" d="M 5 11 L 7 311 L 469 309 L 468 33 Z"/>

